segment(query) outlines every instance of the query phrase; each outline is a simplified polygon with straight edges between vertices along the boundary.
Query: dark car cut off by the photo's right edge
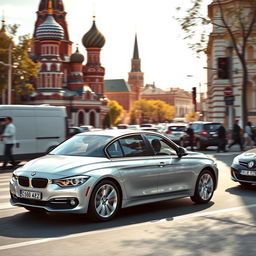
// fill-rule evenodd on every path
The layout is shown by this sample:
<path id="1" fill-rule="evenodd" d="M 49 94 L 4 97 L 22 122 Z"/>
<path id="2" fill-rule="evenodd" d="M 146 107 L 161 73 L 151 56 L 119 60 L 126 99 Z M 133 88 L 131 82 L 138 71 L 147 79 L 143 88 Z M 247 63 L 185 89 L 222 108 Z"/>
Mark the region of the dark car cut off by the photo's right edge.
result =
<path id="1" fill-rule="evenodd" d="M 256 149 L 236 156 L 231 165 L 231 179 L 242 186 L 256 184 Z"/>

